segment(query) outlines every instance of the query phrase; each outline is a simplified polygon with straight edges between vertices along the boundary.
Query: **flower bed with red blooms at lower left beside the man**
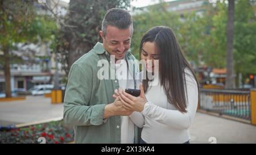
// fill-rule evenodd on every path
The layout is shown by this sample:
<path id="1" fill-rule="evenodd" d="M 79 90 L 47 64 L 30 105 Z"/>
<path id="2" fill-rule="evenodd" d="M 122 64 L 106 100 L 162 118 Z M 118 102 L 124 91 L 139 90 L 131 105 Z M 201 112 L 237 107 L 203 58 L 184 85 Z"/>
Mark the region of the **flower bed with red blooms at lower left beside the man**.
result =
<path id="1" fill-rule="evenodd" d="M 71 143 L 73 139 L 73 128 L 66 127 L 63 120 L 43 124 L 30 125 L 28 127 L 2 127 L 0 128 L 0 143 L 42 143 L 46 144 Z"/>

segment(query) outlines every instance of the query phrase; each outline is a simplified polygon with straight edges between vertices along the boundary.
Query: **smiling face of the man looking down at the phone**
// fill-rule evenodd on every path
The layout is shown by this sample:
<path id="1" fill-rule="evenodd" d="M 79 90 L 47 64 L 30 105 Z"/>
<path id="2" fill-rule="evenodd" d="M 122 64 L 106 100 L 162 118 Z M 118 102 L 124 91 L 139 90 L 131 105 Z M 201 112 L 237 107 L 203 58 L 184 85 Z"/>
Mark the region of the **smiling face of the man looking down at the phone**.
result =
<path id="1" fill-rule="evenodd" d="M 100 31 L 103 46 L 110 55 L 115 56 L 115 60 L 121 60 L 131 45 L 132 27 L 121 30 L 114 26 L 106 28 L 106 36 Z"/>

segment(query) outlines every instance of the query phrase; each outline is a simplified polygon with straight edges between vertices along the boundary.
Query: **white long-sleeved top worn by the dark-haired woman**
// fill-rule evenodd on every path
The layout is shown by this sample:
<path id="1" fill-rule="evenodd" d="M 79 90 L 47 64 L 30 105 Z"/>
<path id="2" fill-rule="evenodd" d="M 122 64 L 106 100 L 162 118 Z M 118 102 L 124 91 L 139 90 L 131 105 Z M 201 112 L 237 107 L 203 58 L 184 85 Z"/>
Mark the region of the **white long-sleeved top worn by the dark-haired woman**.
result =
<path id="1" fill-rule="evenodd" d="M 130 116 L 138 127 L 143 127 L 141 137 L 146 143 L 185 143 L 190 140 L 188 128 L 196 114 L 198 90 L 192 73 L 188 69 L 185 69 L 185 73 L 187 113 L 181 113 L 168 102 L 159 81 L 158 85 L 147 90 L 145 95 L 148 102 L 141 115 Z"/>

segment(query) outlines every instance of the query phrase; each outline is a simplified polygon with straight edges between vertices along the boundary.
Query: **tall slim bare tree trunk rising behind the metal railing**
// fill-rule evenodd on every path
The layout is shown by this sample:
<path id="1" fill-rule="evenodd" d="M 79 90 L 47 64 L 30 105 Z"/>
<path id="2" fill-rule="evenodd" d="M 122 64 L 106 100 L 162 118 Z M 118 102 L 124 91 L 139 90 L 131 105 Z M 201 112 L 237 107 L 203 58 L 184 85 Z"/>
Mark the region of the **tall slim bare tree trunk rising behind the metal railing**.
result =
<path id="1" fill-rule="evenodd" d="M 227 24 L 227 46 L 228 55 L 226 61 L 226 89 L 234 88 L 234 65 L 233 65 L 233 36 L 234 36 L 234 0 L 228 1 L 228 24 Z"/>

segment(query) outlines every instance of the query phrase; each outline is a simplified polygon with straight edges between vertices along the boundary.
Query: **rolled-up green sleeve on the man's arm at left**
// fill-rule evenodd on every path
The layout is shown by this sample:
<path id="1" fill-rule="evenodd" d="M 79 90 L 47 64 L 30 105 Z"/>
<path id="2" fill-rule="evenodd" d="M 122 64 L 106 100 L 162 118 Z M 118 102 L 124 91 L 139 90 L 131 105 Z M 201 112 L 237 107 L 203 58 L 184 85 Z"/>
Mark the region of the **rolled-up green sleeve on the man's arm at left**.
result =
<path id="1" fill-rule="evenodd" d="M 73 64 L 64 98 L 63 119 L 67 125 L 101 125 L 106 104 L 89 105 L 93 89 L 92 68 Z"/>

